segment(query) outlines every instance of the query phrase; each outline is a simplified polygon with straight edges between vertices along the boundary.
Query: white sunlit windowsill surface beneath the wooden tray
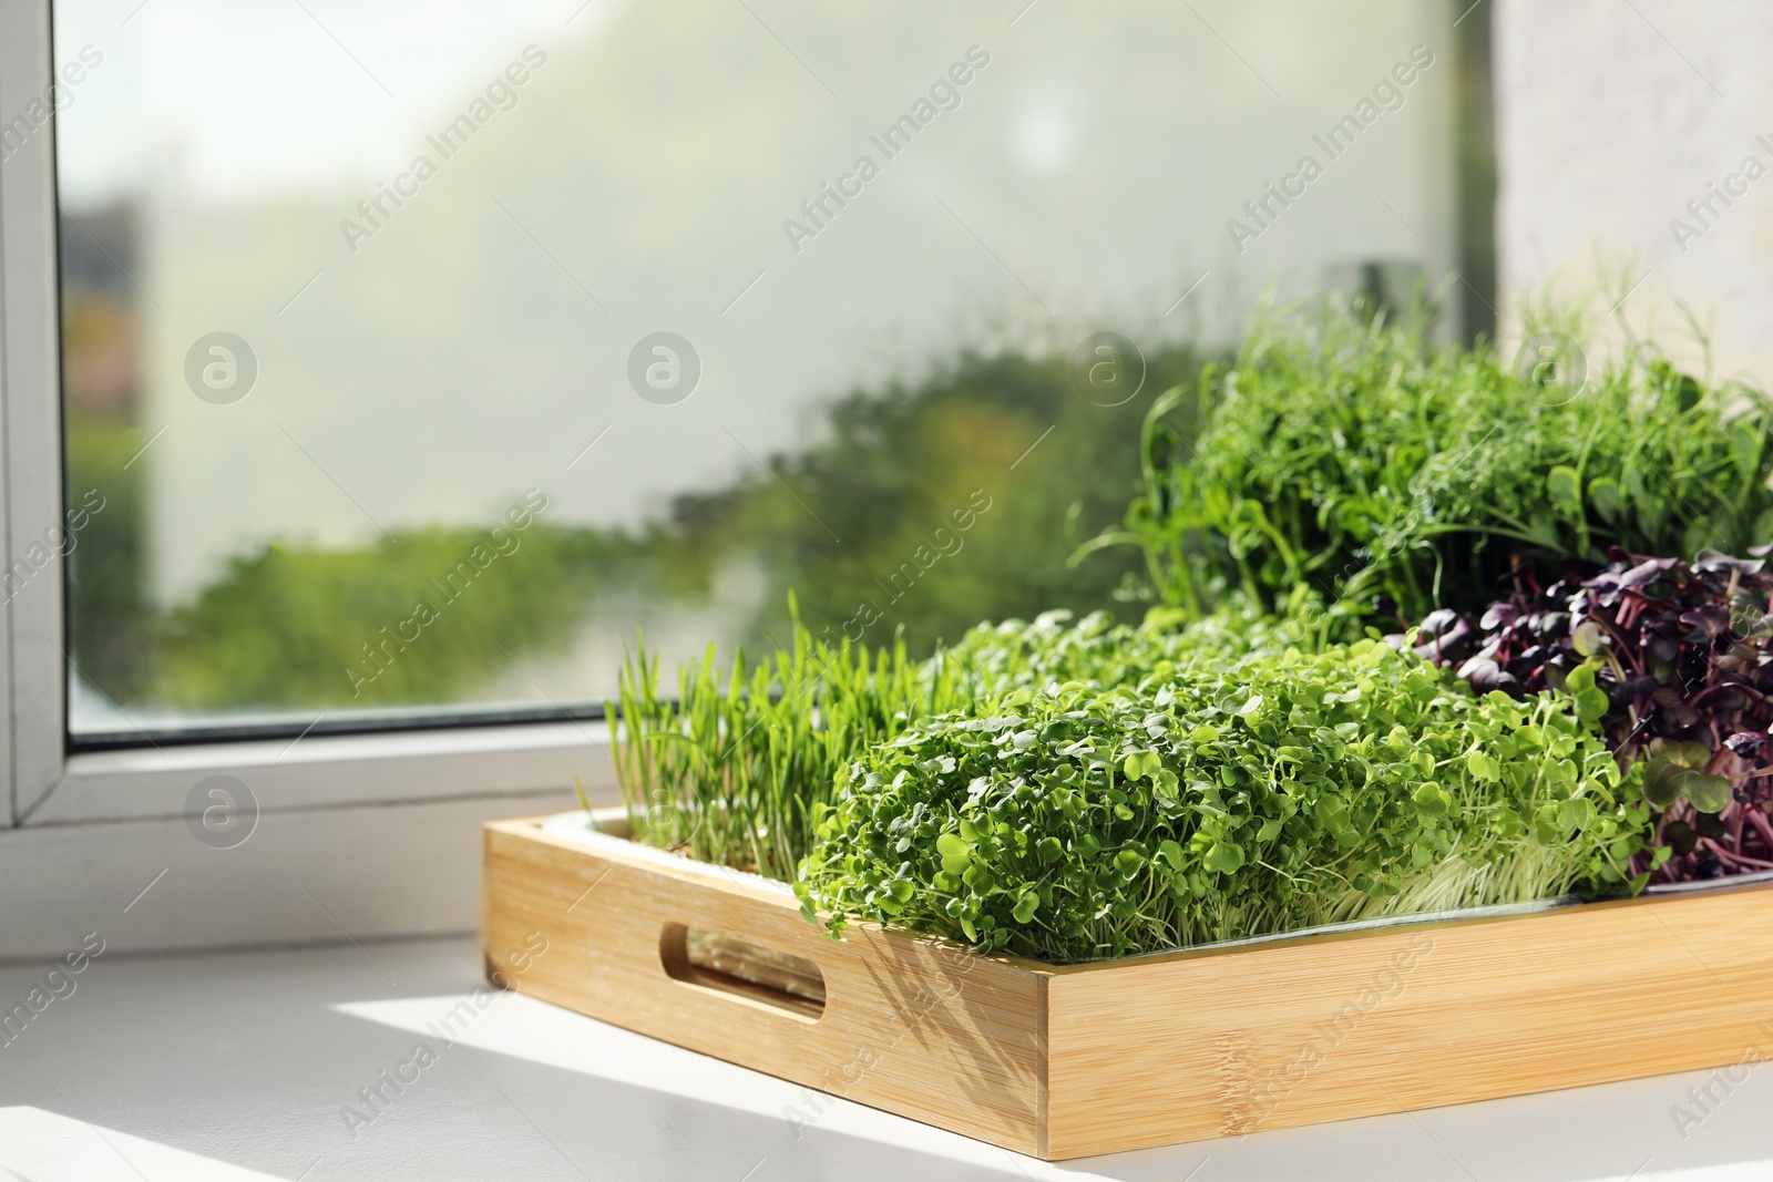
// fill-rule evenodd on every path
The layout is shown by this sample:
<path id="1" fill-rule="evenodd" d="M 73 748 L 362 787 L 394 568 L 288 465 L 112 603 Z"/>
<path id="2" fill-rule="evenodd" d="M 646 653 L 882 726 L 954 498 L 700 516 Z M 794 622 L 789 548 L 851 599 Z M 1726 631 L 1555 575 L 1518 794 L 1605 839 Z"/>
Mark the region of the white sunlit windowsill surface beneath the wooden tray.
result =
<path id="1" fill-rule="evenodd" d="M 46 968 L 0 969 L 0 1005 Z M 0 1046 L 0 1168 L 32 1182 L 1773 1177 L 1766 1070 L 1716 1090 L 1684 1139 L 1670 1106 L 1706 1074 L 1046 1164 L 847 1100 L 817 1097 L 812 1118 L 794 1085 L 514 994 L 482 998 L 445 1046 L 433 1026 L 479 985 L 472 939 L 106 952 Z M 365 1109 L 358 1090 L 418 1040 L 436 1060 Z M 374 1118 L 348 1122 L 346 1106 Z M 810 1118 L 798 1131 L 796 1111 Z"/>

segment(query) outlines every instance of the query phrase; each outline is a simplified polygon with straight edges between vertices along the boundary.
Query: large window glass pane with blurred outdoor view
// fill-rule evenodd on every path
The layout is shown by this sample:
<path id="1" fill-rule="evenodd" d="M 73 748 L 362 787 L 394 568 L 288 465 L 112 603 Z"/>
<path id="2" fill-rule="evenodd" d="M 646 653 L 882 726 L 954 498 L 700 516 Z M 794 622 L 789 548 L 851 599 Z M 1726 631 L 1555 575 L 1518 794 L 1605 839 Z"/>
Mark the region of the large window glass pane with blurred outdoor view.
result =
<path id="1" fill-rule="evenodd" d="M 1470 328 L 1445 4 L 55 11 L 76 741 L 1136 615 L 1067 551 L 1264 294 Z"/>

